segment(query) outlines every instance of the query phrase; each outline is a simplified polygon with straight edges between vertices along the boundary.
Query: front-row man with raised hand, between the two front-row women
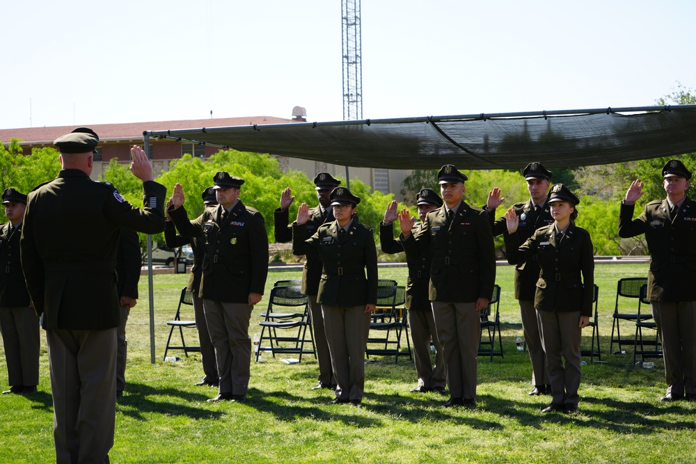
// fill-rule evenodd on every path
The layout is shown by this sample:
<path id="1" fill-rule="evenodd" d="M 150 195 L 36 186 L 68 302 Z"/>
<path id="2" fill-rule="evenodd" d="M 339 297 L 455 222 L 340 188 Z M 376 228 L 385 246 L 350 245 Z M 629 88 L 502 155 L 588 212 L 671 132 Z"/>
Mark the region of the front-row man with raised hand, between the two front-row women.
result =
<path id="1" fill-rule="evenodd" d="M 400 238 L 407 255 L 413 247 L 420 253 L 432 250 L 429 294 L 451 395 L 443 407 L 475 408 L 479 312 L 488 306 L 496 282 L 493 233 L 487 212 L 461 200 L 466 175 L 448 164 L 438 180 L 445 205 L 427 215 L 415 237 L 411 214 L 402 209 Z"/>

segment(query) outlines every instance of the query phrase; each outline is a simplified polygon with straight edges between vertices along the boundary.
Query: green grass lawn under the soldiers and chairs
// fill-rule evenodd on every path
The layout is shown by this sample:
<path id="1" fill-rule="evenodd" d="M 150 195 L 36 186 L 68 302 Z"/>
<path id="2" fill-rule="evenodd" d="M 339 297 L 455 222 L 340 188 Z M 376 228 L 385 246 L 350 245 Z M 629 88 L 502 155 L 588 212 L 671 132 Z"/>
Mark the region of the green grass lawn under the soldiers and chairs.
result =
<path id="1" fill-rule="evenodd" d="M 317 362 L 286 365 L 265 354 L 251 365 L 246 403 L 207 403 L 216 390 L 194 387 L 203 375 L 198 354 L 163 362 L 179 290 L 187 275 L 155 275 L 155 345 L 150 363 L 146 276 L 127 326 L 127 388 L 116 408 L 113 463 L 693 463 L 696 403 L 660 403 L 664 367 L 633 366 L 633 355 L 609 353 L 617 279 L 642 277 L 647 264 L 598 264 L 602 360 L 583 367 L 580 413 L 542 415 L 549 397 L 528 397 L 531 367 L 515 348 L 521 335 L 512 267 L 498 267 L 502 287 L 504 358 L 479 361 L 476 410 L 439 408 L 437 394 L 413 394 L 416 372 L 408 358 L 377 358 L 365 367 L 363 406 L 327 405 L 328 390 L 310 390 Z M 404 284 L 406 269 L 380 269 Z M 267 286 L 300 271 L 272 271 Z M 268 293 L 268 292 L 267 292 Z M 252 319 L 251 335 L 264 300 Z M 628 333 L 633 328 L 626 326 Z M 193 332 L 189 335 L 195 341 Z M 583 336 L 589 342 L 590 332 Z M 291 355 L 296 357 L 296 355 Z M 372 358 L 372 357 L 371 357 Z M 0 349 L 0 383 L 6 386 Z M 42 337 L 39 392 L 0 398 L 0 462 L 54 461 L 53 408 Z"/>

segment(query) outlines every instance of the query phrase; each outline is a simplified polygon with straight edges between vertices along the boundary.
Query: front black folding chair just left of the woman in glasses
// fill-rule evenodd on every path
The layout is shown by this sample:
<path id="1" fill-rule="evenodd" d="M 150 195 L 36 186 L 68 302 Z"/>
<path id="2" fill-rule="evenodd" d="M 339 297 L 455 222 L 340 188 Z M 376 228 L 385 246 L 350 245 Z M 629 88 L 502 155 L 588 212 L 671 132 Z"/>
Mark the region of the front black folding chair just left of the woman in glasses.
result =
<path id="1" fill-rule="evenodd" d="M 307 326 L 310 325 L 307 296 L 301 293 L 299 287 L 273 287 L 264 320 L 259 325 L 261 335 L 256 361 L 264 351 L 270 351 L 274 358 L 276 353 L 297 354 L 300 362 L 305 353 L 312 353 L 316 357 L 314 340 L 307 337 Z M 266 341 L 268 346 L 264 346 Z M 305 349 L 306 342 L 311 344 L 311 350 Z"/>

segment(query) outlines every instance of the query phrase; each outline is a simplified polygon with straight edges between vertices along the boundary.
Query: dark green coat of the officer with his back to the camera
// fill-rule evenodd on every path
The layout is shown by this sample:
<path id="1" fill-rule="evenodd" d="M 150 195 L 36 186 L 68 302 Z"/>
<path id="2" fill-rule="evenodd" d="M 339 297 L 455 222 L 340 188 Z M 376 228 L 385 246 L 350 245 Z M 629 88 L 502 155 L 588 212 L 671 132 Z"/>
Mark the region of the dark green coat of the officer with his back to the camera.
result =
<path id="1" fill-rule="evenodd" d="M 65 169 L 36 187 L 22 227 L 22 269 L 42 327 L 118 327 L 116 250 L 120 228 L 164 231 L 166 187 L 143 182 L 145 209 L 129 205 L 109 183 Z"/>

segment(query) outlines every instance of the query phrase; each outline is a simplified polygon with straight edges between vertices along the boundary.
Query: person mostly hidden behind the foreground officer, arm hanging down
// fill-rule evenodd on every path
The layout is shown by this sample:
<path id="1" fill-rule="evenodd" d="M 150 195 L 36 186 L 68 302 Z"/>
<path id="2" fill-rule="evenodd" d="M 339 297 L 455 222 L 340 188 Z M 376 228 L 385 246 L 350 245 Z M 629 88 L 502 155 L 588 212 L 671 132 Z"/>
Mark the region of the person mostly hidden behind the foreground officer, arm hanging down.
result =
<path id="1" fill-rule="evenodd" d="M 123 396 L 126 387 L 126 358 L 128 342 L 126 340 L 126 322 L 130 309 L 138 302 L 138 282 L 143 255 L 140 239 L 133 230 L 122 228 L 116 251 L 116 292 L 121 307 L 121 323 L 118 326 L 118 349 L 116 350 L 116 398 Z"/>

